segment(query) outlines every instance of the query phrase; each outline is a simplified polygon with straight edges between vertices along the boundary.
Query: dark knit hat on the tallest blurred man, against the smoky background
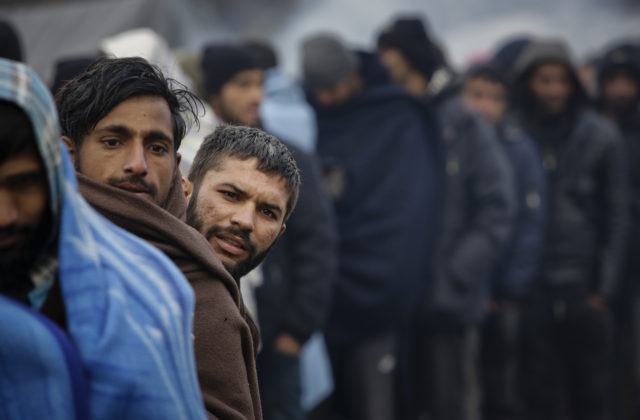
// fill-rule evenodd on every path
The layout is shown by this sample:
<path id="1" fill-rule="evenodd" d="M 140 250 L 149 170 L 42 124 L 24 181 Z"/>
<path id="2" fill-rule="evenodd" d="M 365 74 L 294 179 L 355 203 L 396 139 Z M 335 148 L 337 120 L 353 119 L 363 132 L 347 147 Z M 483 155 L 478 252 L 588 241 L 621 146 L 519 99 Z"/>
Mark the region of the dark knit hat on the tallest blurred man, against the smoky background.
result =
<path id="1" fill-rule="evenodd" d="M 429 38 L 421 19 L 399 18 L 378 36 L 378 48 L 397 48 L 427 80 L 445 65 L 440 48 Z"/>

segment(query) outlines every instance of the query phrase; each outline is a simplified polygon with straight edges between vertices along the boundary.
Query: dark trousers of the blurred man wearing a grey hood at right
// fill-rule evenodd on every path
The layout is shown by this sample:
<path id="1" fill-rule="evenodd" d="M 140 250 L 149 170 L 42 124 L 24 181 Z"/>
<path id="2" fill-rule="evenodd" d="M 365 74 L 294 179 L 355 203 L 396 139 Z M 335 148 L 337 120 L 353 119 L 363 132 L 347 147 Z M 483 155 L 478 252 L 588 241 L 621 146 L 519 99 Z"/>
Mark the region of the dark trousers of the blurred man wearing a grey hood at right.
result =
<path id="1" fill-rule="evenodd" d="M 523 318 L 525 419 L 610 418 L 611 319 L 586 298 L 537 298 Z"/>

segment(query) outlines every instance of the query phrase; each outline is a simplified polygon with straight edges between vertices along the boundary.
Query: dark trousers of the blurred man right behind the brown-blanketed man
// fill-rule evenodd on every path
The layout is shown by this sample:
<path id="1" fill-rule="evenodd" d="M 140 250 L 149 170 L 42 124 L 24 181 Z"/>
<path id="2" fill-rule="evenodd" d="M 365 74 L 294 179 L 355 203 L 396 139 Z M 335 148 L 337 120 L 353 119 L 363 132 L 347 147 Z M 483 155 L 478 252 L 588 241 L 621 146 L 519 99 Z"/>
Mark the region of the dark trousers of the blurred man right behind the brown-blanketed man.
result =
<path id="1" fill-rule="evenodd" d="M 302 420 L 300 358 L 263 348 L 257 359 L 264 420 Z"/>

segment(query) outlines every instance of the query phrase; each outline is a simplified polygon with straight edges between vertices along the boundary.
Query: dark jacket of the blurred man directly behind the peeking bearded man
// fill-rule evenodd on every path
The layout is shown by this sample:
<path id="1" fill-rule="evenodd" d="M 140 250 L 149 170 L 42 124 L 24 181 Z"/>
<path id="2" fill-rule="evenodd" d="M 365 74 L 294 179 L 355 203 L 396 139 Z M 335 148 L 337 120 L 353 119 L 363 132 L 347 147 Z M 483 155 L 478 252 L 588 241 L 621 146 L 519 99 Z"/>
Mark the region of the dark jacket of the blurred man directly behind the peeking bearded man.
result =
<path id="1" fill-rule="evenodd" d="M 337 274 L 337 233 L 317 162 L 288 145 L 302 173 L 296 209 L 263 264 L 256 289 L 258 321 L 265 346 L 287 333 L 304 343 L 329 311 Z"/>

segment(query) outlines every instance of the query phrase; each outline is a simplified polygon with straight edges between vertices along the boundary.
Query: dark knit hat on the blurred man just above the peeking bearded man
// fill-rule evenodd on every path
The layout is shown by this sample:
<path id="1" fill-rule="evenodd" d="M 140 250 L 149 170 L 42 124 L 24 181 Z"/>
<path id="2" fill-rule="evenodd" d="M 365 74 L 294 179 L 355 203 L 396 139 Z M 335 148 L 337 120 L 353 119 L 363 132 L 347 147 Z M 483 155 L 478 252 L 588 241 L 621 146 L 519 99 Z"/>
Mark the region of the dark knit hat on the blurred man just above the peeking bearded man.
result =
<path id="1" fill-rule="evenodd" d="M 254 55 L 242 46 L 209 45 L 202 55 L 205 93 L 220 93 L 222 86 L 239 72 L 259 69 Z"/>

